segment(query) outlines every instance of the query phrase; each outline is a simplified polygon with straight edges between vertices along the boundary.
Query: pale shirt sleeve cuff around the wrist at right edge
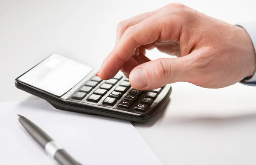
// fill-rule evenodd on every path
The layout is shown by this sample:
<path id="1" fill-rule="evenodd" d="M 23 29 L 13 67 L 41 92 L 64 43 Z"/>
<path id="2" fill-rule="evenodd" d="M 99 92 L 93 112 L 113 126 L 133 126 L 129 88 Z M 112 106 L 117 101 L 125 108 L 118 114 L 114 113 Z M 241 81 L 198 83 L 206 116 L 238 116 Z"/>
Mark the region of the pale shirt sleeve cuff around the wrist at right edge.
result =
<path id="1" fill-rule="evenodd" d="M 246 22 L 246 23 L 239 23 L 237 26 L 240 26 L 246 30 L 246 32 L 250 35 L 250 38 L 253 42 L 254 51 L 256 50 L 256 21 L 253 22 Z M 256 72 L 253 76 L 244 78 L 240 81 L 241 84 L 256 86 Z"/>

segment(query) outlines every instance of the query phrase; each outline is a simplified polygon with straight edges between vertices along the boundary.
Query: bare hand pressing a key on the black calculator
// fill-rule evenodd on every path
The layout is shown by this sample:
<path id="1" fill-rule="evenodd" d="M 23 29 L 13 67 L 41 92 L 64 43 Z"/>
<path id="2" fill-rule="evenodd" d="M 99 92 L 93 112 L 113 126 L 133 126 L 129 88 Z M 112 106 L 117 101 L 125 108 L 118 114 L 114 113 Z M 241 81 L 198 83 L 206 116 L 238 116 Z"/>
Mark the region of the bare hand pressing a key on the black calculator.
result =
<path id="1" fill-rule="evenodd" d="M 150 61 L 145 49 L 178 58 Z M 182 4 L 169 4 L 119 23 L 116 45 L 99 71 L 121 69 L 137 90 L 184 81 L 206 88 L 235 84 L 254 74 L 256 55 L 247 32 Z"/>

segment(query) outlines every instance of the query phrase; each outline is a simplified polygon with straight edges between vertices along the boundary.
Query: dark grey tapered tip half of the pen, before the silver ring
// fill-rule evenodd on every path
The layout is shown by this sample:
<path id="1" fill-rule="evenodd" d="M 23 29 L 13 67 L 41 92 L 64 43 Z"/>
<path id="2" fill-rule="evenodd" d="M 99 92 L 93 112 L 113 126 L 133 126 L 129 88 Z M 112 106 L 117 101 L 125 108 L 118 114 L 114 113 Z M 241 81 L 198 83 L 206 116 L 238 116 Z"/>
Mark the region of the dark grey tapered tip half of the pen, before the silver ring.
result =
<path id="1" fill-rule="evenodd" d="M 24 129 L 29 133 L 29 135 L 36 141 L 38 144 L 44 148 L 45 145 L 52 141 L 52 138 L 48 136 L 41 128 L 31 122 L 29 119 L 26 119 L 24 116 L 19 117 L 20 124 Z"/>

